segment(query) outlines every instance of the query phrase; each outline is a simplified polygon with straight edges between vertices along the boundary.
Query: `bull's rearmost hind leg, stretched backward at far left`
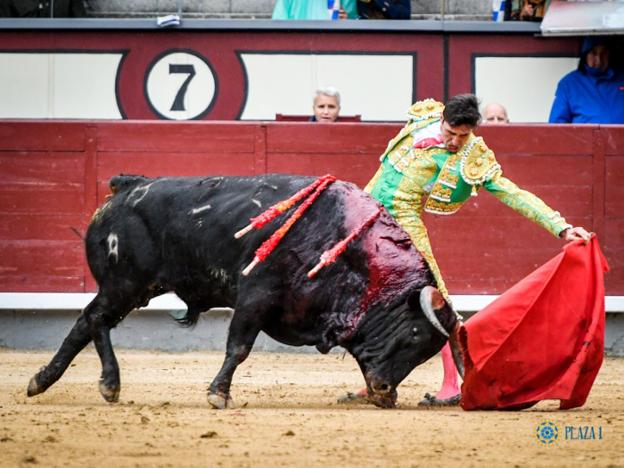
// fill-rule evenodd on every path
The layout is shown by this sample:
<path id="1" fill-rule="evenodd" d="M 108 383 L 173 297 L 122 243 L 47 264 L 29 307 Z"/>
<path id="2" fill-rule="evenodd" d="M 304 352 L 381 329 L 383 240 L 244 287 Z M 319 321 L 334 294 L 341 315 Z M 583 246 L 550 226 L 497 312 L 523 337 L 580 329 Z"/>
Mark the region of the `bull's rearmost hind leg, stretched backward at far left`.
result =
<path id="1" fill-rule="evenodd" d="M 88 308 L 89 306 L 87 306 Z M 83 312 L 76 320 L 74 327 L 47 366 L 35 374 L 28 384 L 27 395 L 34 396 L 45 392 L 54 382 L 61 378 L 76 355 L 91 341 L 89 325 Z"/>

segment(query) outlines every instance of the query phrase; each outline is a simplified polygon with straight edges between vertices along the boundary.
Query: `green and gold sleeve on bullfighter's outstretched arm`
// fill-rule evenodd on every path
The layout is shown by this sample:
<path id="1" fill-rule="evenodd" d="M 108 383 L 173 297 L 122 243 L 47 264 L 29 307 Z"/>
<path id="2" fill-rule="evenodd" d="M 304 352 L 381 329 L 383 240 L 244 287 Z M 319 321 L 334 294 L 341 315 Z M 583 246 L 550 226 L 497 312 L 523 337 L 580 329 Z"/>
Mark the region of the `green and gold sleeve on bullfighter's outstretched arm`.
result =
<path id="1" fill-rule="evenodd" d="M 558 211 L 554 211 L 540 198 L 503 177 L 500 171 L 483 186 L 505 205 L 539 224 L 553 236 L 558 237 L 561 231 L 572 227 Z"/>

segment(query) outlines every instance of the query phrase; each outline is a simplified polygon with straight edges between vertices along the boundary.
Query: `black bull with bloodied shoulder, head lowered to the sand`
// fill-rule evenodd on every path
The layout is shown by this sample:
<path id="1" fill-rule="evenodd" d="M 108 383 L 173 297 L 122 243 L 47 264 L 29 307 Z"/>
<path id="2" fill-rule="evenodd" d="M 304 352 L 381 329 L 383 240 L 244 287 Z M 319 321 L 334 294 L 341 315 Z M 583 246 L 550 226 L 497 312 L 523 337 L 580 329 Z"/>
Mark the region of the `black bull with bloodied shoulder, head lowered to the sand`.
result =
<path id="1" fill-rule="evenodd" d="M 233 234 L 313 181 L 288 175 L 114 177 L 114 196 L 94 214 L 86 235 L 98 293 L 51 362 L 31 379 L 28 395 L 56 382 L 93 340 L 102 364 L 100 392 L 117 401 L 119 366 L 111 328 L 151 298 L 174 291 L 188 306 L 179 319 L 185 325 L 212 307 L 235 311 L 225 360 L 209 389 L 213 406 L 230 402 L 234 371 L 260 331 L 285 344 L 314 345 L 322 353 L 344 347 L 360 366 L 370 401 L 394 406 L 397 385 L 438 353 L 445 331 L 456 326 L 422 256 L 382 210 L 335 263 L 307 276 L 323 251 L 379 210 L 377 201 L 352 184 L 333 183 L 265 262 L 248 276 L 241 273 L 292 209 L 241 239 Z"/>

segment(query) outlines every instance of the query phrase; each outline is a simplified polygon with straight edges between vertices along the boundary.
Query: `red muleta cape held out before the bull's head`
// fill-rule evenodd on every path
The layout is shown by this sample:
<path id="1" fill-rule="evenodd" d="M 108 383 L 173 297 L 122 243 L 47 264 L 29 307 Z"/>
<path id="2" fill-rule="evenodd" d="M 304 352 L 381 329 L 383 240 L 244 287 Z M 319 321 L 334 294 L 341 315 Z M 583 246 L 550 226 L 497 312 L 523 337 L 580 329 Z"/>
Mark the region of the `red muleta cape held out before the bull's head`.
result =
<path id="1" fill-rule="evenodd" d="M 595 236 L 567 244 L 460 330 L 465 410 L 582 406 L 604 354 L 607 262 Z"/>

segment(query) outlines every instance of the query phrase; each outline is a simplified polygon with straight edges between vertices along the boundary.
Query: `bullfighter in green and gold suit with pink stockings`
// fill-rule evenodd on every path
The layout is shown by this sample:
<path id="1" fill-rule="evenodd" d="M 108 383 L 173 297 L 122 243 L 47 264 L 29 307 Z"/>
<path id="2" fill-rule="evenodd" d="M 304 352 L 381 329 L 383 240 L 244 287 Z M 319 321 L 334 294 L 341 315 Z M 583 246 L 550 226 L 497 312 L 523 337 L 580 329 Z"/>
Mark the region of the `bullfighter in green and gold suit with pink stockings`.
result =
<path id="1" fill-rule="evenodd" d="M 472 94 L 454 96 L 446 105 L 433 99 L 416 102 L 365 188 L 407 231 L 447 300 L 449 294 L 422 220 L 423 210 L 451 215 L 484 188 L 554 236 L 566 241 L 587 242 L 590 238 L 584 228 L 571 226 L 559 212 L 503 176 L 494 152 L 473 133 L 480 120 L 479 101 Z M 460 401 L 457 371 L 448 346 L 442 350 L 442 360 L 442 389 L 435 396 L 427 393 L 422 405 L 453 405 Z M 348 393 L 341 400 L 360 398 L 365 398 L 364 392 Z"/>

